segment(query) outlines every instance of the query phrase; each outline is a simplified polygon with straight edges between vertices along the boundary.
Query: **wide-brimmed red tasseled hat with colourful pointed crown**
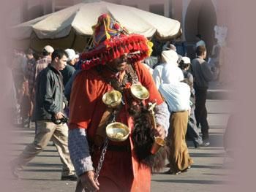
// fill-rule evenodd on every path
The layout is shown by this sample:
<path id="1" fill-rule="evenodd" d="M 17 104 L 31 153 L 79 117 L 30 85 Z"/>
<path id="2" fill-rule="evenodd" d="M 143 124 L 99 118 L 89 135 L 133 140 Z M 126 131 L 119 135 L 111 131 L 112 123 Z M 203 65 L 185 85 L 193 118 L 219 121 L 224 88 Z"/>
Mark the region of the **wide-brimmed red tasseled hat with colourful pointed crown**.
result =
<path id="1" fill-rule="evenodd" d="M 94 34 L 92 50 L 80 55 L 82 69 L 105 65 L 108 61 L 129 54 L 128 60 L 135 62 L 151 55 L 153 44 L 140 34 L 129 34 L 126 28 L 108 14 L 99 16 L 92 27 Z"/>

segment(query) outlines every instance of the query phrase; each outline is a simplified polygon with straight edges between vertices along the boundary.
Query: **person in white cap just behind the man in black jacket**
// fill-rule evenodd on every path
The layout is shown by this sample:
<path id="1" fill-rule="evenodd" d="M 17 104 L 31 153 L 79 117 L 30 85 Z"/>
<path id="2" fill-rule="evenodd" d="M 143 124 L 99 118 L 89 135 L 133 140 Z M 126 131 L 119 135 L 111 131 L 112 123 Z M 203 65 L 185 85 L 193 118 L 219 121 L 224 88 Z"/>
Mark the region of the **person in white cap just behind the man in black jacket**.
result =
<path id="1" fill-rule="evenodd" d="M 67 58 L 67 66 L 64 70 L 61 71 L 61 74 L 63 76 L 63 85 L 66 86 L 67 82 L 69 81 L 70 77 L 72 77 L 72 74 L 75 73 L 75 64 L 77 62 L 77 55 L 75 53 L 75 50 L 72 49 L 66 49 L 65 50 L 68 58 Z"/>

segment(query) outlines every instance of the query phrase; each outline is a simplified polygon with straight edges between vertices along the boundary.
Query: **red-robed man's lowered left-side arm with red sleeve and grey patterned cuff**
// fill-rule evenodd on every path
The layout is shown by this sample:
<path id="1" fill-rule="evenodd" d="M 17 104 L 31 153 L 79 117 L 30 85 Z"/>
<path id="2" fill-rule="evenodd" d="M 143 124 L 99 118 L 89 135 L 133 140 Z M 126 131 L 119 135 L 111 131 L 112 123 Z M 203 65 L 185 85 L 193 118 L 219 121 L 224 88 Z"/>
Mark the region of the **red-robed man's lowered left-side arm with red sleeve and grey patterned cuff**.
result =
<path id="1" fill-rule="evenodd" d="M 69 102 L 69 153 L 80 183 L 86 191 L 99 190 L 99 183 L 94 180 L 94 168 L 86 135 L 93 117 L 93 109 L 96 109 L 95 101 L 102 99 L 98 96 L 96 76 L 91 70 L 79 72 L 72 83 Z M 102 88 L 102 84 L 99 87 Z M 104 89 L 102 91 L 105 92 Z M 97 112 L 101 111 L 102 109 L 97 109 Z"/>

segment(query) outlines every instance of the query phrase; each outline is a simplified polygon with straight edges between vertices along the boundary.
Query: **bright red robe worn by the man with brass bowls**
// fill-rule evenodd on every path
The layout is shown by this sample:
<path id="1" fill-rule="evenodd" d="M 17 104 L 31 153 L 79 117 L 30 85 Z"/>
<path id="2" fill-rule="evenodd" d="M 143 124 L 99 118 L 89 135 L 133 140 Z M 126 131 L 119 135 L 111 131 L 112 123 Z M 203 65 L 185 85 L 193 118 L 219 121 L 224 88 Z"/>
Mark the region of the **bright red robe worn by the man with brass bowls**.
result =
<path id="1" fill-rule="evenodd" d="M 140 63 L 134 64 L 134 69 L 140 83 L 150 93 L 146 102 L 157 101 L 157 104 L 162 104 L 162 97 L 157 91 L 148 69 Z M 111 77 L 113 72 L 105 70 L 104 75 Z M 96 69 L 80 72 L 72 85 L 69 128 L 86 128 L 88 138 L 92 140 L 106 110 L 102 96 L 110 88 L 110 85 L 99 76 Z M 116 121 L 126 124 L 130 131 L 132 130 L 133 120 L 127 112 L 127 105 L 119 112 Z M 127 142 L 131 146 L 131 153 L 107 151 L 105 154 L 105 160 L 99 173 L 99 188 L 102 191 L 150 191 L 151 169 L 138 163 L 131 137 L 126 142 L 112 142 L 111 145 L 127 145 Z M 94 168 L 97 166 L 99 153 L 92 157 Z"/>

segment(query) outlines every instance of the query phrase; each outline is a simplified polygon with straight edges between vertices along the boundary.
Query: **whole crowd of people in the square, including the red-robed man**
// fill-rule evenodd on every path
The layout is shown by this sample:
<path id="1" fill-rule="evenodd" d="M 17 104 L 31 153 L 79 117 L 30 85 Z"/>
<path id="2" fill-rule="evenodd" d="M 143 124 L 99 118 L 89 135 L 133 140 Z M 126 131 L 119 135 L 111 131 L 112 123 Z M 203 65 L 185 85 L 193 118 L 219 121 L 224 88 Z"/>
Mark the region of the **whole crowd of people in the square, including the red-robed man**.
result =
<path id="1" fill-rule="evenodd" d="M 166 174 L 187 172 L 193 160 L 186 140 L 195 147 L 210 145 L 206 95 L 215 74 L 202 43 L 192 61 L 172 44 L 150 57 L 151 47 L 146 37 L 129 34 L 104 14 L 94 26 L 91 50 L 46 45 L 42 55 L 15 52 L 15 117 L 22 127 L 32 121 L 36 128 L 34 141 L 11 162 L 15 177 L 50 140 L 63 164 L 61 180 L 78 180 L 77 191 L 150 191 L 152 170 L 163 168 L 156 168 L 159 158 L 169 161 Z M 134 84 L 146 88 L 148 98 L 135 98 Z M 122 96 L 116 108 L 102 101 L 113 90 Z M 152 103 L 155 126 L 148 112 Z M 113 122 L 129 128 L 129 139 L 108 139 L 101 129 Z M 151 154 L 156 137 L 166 145 Z"/>

